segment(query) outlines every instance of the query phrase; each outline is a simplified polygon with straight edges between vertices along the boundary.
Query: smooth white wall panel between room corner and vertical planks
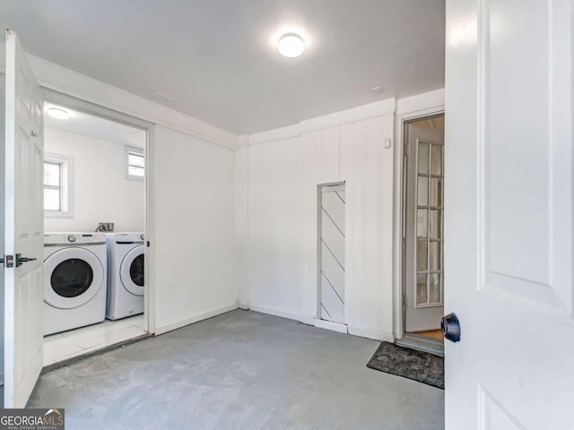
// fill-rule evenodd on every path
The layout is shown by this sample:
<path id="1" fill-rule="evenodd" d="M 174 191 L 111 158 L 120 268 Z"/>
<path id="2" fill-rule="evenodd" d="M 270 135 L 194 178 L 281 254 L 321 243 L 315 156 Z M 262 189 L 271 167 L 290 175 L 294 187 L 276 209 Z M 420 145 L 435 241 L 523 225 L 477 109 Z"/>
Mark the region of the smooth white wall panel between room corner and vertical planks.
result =
<path id="1" fill-rule="evenodd" d="M 303 142 L 295 137 L 247 150 L 248 307 L 298 318 L 305 273 Z"/>

